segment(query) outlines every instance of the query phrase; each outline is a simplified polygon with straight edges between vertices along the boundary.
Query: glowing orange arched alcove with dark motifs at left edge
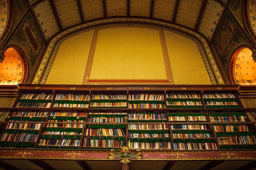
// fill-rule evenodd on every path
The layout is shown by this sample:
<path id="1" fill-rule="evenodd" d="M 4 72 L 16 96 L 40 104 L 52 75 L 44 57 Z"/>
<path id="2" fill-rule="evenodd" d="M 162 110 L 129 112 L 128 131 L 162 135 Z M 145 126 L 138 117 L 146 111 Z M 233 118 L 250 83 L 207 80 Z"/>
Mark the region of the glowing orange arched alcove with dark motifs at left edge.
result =
<path id="1" fill-rule="evenodd" d="M 0 62 L 0 85 L 25 83 L 28 68 L 22 51 L 16 47 L 10 47 L 4 54 L 4 61 Z"/>

